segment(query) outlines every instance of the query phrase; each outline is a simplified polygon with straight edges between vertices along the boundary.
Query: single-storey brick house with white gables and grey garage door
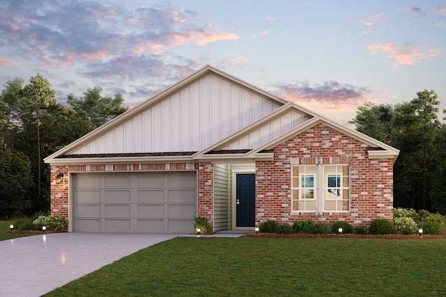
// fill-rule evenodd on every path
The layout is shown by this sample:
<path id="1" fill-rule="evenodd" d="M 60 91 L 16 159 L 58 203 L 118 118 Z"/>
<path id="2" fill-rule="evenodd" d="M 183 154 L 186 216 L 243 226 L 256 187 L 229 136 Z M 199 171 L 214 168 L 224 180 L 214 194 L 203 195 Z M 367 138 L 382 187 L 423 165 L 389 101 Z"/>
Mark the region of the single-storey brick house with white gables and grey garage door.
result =
<path id="1" fill-rule="evenodd" d="M 45 159 L 70 232 L 392 218 L 399 151 L 210 65 Z"/>

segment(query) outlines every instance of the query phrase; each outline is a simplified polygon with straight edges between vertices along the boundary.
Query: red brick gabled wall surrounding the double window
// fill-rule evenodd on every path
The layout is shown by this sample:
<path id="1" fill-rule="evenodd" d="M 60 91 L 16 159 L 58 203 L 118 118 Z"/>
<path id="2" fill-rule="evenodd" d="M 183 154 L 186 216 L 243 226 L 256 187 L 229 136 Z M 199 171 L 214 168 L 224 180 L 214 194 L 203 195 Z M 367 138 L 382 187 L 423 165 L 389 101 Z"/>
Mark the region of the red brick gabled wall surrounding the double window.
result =
<path id="1" fill-rule="evenodd" d="M 346 220 L 367 227 L 377 217 L 392 219 L 393 159 L 369 159 L 367 147 L 322 124 L 277 145 L 273 161 L 256 161 L 256 224 L 311 218 L 329 225 Z M 291 213 L 291 166 L 315 163 L 350 165 L 350 211 Z"/>

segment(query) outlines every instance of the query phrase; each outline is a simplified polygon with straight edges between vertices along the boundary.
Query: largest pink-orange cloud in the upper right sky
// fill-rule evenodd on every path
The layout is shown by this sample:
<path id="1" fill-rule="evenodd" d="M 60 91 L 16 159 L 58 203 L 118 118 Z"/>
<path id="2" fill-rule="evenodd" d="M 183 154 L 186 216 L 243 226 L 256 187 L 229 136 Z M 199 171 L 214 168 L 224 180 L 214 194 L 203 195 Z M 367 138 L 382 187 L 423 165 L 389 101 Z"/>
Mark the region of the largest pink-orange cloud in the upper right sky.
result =
<path id="1" fill-rule="evenodd" d="M 393 67 L 398 68 L 401 65 L 416 65 L 418 62 L 433 58 L 440 54 L 443 49 L 426 49 L 422 46 L 415 46 L 413 44 L 400 44 L 398 42 L 386 43 L 384 45 L 368 45 L 371 55 L 377 54 L 379 51 L 384 51 L 387 56 L 394 60 Z"/>

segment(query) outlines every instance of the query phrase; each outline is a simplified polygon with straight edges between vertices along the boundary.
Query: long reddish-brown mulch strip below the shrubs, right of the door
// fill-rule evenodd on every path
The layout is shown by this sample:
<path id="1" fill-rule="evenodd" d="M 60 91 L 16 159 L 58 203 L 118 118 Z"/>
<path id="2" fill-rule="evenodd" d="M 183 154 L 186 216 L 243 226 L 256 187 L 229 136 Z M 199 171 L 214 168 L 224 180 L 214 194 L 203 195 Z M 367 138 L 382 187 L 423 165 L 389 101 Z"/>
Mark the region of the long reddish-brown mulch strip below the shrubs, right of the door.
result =
<path id="1" fill-rule="evenodd" d="M 295 234 L 277 234 L 277 233 L 250 233 L 243 235 L 243 237 L 259 237 L 259 238 L 278 238 L 278 239 L 305 239 L 305 238 L 351 238 L 351 239 L 446 239 L 446 234 L 433 235 L 433 234 L 423 234 L 422 236 L 418 234 L 384 234 L 384 235 L 373 235 L 373 234 L 305 234 L 305 233 L 295 233 Z"/>

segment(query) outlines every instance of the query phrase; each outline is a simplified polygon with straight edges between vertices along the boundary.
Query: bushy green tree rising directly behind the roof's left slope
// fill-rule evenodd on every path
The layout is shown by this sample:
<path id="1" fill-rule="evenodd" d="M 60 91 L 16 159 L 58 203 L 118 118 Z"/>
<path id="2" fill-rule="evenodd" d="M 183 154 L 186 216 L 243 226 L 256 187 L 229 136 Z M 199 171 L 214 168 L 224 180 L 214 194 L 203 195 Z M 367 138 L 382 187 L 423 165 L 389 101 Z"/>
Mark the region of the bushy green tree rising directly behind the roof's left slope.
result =
<path id="1" fill-rule="evenodd" d="M 105 122 L 116 118 L 127 109 L 122 106 L 124 99 L 121 94 L 114 97 L 102 97 L 102 88 L 95 86 L 84 92 L 84 97 L 75 98 L 68 95 L 68 104 L 82 120 L 89 123 L 88 131 L 91 131 Z"/>

